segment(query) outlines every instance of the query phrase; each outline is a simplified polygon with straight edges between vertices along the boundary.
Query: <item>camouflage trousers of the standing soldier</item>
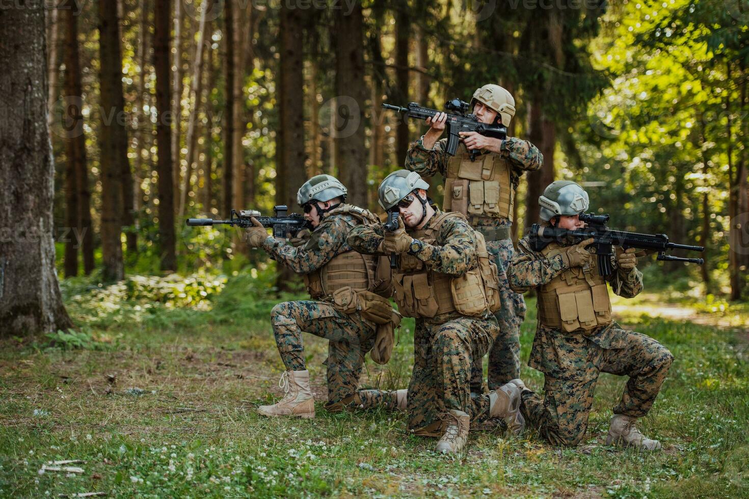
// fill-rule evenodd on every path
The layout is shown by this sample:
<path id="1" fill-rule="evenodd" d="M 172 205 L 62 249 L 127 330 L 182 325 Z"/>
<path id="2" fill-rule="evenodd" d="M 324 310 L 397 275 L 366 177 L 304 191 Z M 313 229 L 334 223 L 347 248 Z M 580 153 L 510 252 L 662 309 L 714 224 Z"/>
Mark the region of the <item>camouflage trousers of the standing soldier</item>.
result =
<path id="1" fill-rule="evenodd" d="M 494 256 L 494 263 L 497 263 L 502 300 L 502 307 L 494 314 L 500 325 L 500 334 L 489 352 L 488 366 L 489 390 L 497 390 L 511 379 L 520 377 L 520 326 L 525 319 L 526 308 L 523 296 L 510 289 L 505 272 L 507 263 L 515 253 L 512 239 L 487 242 L 486 248 Z M 483 375 L 482 359 L 474 358 L 470 383 L 472 392 L 481 393 Z"/>

